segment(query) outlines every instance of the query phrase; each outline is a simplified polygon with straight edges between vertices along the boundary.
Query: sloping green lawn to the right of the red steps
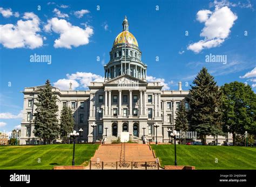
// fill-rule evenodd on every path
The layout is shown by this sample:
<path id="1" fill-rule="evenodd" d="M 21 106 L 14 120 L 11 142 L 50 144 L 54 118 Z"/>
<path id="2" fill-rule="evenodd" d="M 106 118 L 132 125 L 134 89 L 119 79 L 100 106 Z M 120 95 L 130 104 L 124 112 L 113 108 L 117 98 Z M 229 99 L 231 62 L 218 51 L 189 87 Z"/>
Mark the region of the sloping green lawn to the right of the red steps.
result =
<path id="1" fill-rule="evenodd" d="M 174 145 L 151 145 L 161 166 L 174 165 Z M 196 169 L 256 169 L 256 148 L 177 145 L 177 162 Z M 218 163 L 215 163 L 218 159 Z"/>

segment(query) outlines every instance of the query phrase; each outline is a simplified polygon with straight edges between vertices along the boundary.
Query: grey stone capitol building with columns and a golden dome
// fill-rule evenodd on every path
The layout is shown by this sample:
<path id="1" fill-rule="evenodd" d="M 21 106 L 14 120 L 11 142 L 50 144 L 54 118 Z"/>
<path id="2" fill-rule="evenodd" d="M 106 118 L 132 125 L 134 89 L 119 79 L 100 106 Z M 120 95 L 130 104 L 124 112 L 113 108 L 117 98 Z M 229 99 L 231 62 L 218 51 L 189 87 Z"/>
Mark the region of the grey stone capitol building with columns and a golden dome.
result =
<path id="1" fill-rule="evenodd" d="M 122 25 L 123 31 L 114 39 L 110 61 L 104 66 L 104 82 L 91 82 L 89 90 L 84 91 L 72 90 L 72 84 L 69 90 L 52 87 L 57 96 L 58 118 L 64 105 L 71 108 L 80 142 L 104 139 L 110 143 L 122 139 L 123 135 L 139 143 L 143 135 L 145 141 L 156 141 L 157 135 L 158 142 L 168 142 L 180 101 L 189 91 L 181 88 L 181 82 L 178 90 L 166 91 L 160 82 L 147 82 L 147 65 L 142 61 L 138 41 L 129 31 L 126 17 Z M 21 145 L 41 143 L 33 134 L 33 114 L 36 112 L 34 102 L 43 88 L 41 85 L 23 91 Z M 189 110 L 186 101 L 185 108 Z M 232 138 L 219 136 L 218 141 L 227 139 Z M 212 140 L 213 137 L 208 136 L 206 141 Z"/>

